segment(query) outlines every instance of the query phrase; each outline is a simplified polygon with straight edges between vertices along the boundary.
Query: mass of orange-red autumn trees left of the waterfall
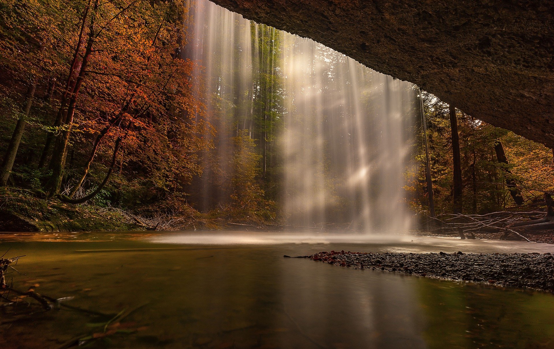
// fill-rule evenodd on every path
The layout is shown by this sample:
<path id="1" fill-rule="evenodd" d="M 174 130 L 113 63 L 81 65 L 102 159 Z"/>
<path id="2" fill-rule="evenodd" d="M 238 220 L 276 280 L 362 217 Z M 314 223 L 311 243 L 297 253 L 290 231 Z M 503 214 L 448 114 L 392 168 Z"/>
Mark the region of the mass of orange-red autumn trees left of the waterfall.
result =
<path id="1" fill-rule="evenodd" d="M 194 63 L 181 56 L 182 3 L 13 1 L 2 11 L 2 33 L 11 35 L 0 41 L 0 64 L 10 74 L 2 111 L 32 121 L 28 133 L 15 128 L 14 140 L 43 145 L 34 163 L 18 165 L 28 171 L 18 176 L 41 174 L 50 196 L 82 202 L 114 175 L 119 190 L 110 190 L 150 183 L 164 193 L 202 171 L 198 153 L 212 131 L 197 118 L 204 106 L 192 93 Z M 35 80 L 38 96 L 27 98 Z M 11 143 L 6 158 L 17 165 Z"/>

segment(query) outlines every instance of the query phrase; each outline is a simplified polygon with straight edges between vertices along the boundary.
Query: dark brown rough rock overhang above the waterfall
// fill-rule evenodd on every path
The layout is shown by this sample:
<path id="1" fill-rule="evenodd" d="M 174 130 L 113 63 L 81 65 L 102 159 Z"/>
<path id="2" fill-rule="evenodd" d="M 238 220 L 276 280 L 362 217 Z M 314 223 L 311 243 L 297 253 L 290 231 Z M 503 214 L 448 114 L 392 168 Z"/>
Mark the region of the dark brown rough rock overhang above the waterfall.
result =
<path id="1" fill-rule="evenodd" d="M 554 147 L 550 0 L 213 0 Z"/>

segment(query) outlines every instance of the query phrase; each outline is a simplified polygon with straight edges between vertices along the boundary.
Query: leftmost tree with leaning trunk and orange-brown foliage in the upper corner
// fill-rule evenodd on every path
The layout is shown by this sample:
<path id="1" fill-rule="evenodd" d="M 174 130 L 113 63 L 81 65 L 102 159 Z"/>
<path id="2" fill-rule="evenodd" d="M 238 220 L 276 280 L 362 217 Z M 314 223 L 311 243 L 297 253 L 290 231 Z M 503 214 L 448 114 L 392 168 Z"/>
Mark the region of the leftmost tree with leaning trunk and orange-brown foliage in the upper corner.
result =
<path id="1" fill-rule="evenodd" d="M 17 120 L 3 157 L 0 185 L 7 184 L 25 127 L 34 121 L 30 115 L 33 104 L 42 104 L 35 98 L 37 86 L 50 84 L 52 74 L 58 71 L 63 60 L 63 49 L 56 34 L 70 27 L 71 20 L 58 25 L 54 18 L 67 14 L 63 4 L 57 1 L 7 1 L 0 7 L 2 109 L 8 119 Z"/>

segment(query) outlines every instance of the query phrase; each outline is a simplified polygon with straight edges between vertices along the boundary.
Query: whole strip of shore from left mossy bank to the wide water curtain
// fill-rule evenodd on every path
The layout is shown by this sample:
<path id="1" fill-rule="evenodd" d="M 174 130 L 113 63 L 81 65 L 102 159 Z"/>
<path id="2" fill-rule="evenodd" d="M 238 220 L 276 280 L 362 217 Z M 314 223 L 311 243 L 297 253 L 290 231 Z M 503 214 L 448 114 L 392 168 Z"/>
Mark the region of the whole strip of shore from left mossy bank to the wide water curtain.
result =
<path id="1" fill-rule="evenodd" d="M 175 215 L 144 214 L 117 207 L 41 199 L 24 189 L 0 189 L 0 231 L 4 232 L 271 230 L 279 226 L 268 214 L 255 215 L 232 207 L 202 213 L 186 206 Z"/>

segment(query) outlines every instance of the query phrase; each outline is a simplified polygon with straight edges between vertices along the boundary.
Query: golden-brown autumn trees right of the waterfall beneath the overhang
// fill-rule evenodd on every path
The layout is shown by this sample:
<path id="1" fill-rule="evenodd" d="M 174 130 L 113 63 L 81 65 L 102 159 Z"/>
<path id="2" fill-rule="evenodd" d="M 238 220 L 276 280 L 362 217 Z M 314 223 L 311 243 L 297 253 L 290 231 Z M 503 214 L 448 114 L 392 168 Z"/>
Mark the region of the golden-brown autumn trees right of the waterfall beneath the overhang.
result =
<path id="1" fill-rule="evenodd" d="M 450 108 L 438 98 L 423 92 L 425 117 L 428 122 L 430 171 L 433 178 L 435 209 L 450 213 L 453 207 L 454 164 Z M 463 211 L 487 213 L 518 205 L 511 190 L 520 192 L 526 202 L 540 202 L 542 192 L 552 190 L 552 159 L 550 149 L 541 144 L 496 128 L 468 114 L 456 111 L 459 133 L 460 169 L 463 184 Z M 499 162 L 495 144 L 500 141 L 506 162 Z M 420 162 L 414 192 L 423 191 L 425 184 L 425 149 L 423 138 L 418 144 Z M 503 157 L 500 157 L 503 159 Z M 506 179 L 512 180 L 509 186 Z M 516 194 L 516 197 L 519 195 Z M 417 207 L 427 209 L 423 196 L 415 196 Z"/>

